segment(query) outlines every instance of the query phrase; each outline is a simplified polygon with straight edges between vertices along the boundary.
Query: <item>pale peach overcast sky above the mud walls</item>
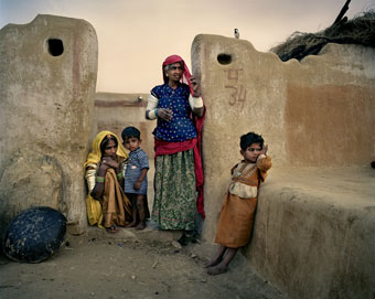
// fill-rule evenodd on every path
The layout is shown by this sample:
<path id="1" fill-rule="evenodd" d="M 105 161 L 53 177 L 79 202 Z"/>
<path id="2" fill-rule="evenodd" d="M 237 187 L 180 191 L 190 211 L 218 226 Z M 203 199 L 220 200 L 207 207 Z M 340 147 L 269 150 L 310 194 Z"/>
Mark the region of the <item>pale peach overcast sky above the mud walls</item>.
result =
<path id="1" fill-rule="evenodd" d="M 0 0 L 0 28 L 24 24 L 36 14 L 85 19 L 99 43 L 97 90 L 148 93 L 162 83 L 161 63 L 190 50 L 201 33 L 240 39 L 267 52 L 294 31 L 331 25 L 345 0 Z M 375 0 L 352 0 L 353 18 L 375 9 Z"/>

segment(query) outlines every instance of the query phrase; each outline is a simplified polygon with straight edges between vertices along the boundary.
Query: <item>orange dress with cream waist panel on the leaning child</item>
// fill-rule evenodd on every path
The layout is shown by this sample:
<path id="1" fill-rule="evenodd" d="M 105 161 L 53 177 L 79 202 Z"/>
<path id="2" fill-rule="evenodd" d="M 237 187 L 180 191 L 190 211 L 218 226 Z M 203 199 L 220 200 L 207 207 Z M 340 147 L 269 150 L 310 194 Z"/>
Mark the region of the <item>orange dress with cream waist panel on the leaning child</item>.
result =
<path id="1" fill-rule="evenodd" d="M 258 189 L 270 167 L 271 158 L 262 154 L 256 163 L 242 161 L 232 169 L 232 182 L 225 194 L 215 243 L 229 248 L 238 248 L 248 243 L 257 207 Z"/>

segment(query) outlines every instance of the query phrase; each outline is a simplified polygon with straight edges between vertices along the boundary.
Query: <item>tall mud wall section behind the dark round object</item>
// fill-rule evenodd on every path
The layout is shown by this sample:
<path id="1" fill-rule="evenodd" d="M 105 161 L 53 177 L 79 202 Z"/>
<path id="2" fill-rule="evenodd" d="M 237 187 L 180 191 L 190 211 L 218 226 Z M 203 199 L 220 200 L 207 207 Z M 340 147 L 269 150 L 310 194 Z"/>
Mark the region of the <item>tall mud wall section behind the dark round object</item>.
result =
<path id="1" fill-rule="evenodd" d="M 0 31 L 1 229 L 47 205 L 87 226 L 83 163 L 93 129 L 98 45 L 84 20 L 38 15 Z"/>

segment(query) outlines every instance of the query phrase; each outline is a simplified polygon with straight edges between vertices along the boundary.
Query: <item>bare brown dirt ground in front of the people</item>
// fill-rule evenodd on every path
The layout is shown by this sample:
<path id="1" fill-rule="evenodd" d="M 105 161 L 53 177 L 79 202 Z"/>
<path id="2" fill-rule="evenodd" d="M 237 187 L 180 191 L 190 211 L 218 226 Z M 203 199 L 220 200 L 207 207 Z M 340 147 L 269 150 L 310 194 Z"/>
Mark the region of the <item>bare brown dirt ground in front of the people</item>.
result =
<path id="1" fill-rule="evenodd" d="M 0 298 L 286 298 L 251 273 L 242 254 L 226 274 L 208 276 L 203 264 L 215 245 L 178 248 L 165 233 L 148 227 L 109 234 L 93 227 L 67 235 L 61 249 L 40 264 L 1 255 Z"/>

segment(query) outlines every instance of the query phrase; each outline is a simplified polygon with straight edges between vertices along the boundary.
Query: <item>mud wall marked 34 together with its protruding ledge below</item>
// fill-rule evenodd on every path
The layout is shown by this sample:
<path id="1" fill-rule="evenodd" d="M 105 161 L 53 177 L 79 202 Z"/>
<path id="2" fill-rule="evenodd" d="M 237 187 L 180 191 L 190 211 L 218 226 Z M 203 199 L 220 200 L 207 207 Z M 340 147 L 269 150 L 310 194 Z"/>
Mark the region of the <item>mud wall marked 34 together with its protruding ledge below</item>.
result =
<path id="1" fill-rule="evenodd" d="M 256 131 L 274 169 L 245 250 L 250 265 L 291 298 L 372 296 L 375 50 L 329 44 L 283 63 L 247 41 L 197 35 L 192 62 L 207 106 L 203 238 L 214 241 L 239 137 Z"/>

